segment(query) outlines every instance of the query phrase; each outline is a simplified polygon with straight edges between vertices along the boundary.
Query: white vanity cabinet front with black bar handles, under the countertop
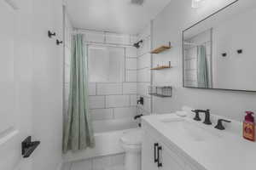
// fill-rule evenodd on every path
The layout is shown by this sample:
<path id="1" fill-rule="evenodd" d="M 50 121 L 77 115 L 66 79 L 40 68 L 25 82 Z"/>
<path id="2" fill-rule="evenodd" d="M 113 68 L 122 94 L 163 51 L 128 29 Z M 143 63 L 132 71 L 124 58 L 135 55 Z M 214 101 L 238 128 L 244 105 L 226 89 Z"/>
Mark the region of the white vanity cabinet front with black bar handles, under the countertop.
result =
<path id="1" fill-rule="evenodd" d="M 150 133 L 143 133 L 142 169 L 143 170 L 185 170 L 184 163 Z M 188 169 L 190 170 L 190 169 Z"/>

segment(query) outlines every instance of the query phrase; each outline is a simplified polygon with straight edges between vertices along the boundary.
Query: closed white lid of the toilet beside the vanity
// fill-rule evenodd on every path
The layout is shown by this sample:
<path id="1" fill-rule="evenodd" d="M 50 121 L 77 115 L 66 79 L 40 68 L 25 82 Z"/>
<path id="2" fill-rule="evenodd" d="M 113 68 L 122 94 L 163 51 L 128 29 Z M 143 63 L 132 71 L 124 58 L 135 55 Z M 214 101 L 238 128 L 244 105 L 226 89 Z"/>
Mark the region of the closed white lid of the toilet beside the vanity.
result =
<path id="1" fill-rule="evenodd" d="M 128 145 L 139 145 L 139 144 L 142 144 L 142 141 L 143 141 L 143 131 L 141 129 L 134 129 L 134 130 L 128 131 L 121 138 L 121 141 L 124 144 L 128 144 Z"/>

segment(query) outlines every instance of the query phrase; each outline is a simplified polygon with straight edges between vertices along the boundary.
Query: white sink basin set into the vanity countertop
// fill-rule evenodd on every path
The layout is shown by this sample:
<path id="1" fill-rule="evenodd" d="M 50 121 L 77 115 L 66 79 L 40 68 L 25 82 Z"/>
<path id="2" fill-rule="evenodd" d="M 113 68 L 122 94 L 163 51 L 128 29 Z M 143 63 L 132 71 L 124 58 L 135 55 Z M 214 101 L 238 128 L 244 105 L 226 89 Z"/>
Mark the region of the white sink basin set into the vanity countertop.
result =
<path id="1" fill-rule="evenodd" d="M 211 130 L 199 126 L 195 122 L 188 121 L 183 118 L 172 118 L 167 120 L 161 120 L 170 128 L 171 131 L 183 135 L 184 138 L 192 139 L 195 141 L 205 141 L 212 139 L 219 139 L 220 135 L 212 132 Z"/>

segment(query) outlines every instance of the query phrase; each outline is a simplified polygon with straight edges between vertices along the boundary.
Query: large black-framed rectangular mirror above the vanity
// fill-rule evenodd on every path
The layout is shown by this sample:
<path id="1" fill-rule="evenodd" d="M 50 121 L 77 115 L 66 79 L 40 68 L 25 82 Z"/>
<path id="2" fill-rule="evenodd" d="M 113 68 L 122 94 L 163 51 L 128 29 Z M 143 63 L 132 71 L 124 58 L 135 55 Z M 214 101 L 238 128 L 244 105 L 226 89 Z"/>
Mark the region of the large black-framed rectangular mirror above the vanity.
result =
<path id="1" fill-rule="evenodd" d="M 183 87 L 256 91 L 255 16 L 236 1 L 183 31 Z"/>

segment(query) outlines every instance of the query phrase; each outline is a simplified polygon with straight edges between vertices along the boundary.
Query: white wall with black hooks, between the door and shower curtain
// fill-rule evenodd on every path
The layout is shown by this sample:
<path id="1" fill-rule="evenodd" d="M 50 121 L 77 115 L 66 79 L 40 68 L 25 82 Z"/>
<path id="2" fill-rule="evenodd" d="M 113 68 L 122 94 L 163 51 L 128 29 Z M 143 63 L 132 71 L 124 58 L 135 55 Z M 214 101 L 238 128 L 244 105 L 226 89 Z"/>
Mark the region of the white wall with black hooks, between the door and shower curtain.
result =
<path id="1" fill-rule="evenodd" d="M 32 130 L 41 141 L 33 154 L 32 169 L 55 170 L 61 163 L 62 139 L 62 40 L 61 0 L 33 0 L 32 19 Z"/>

